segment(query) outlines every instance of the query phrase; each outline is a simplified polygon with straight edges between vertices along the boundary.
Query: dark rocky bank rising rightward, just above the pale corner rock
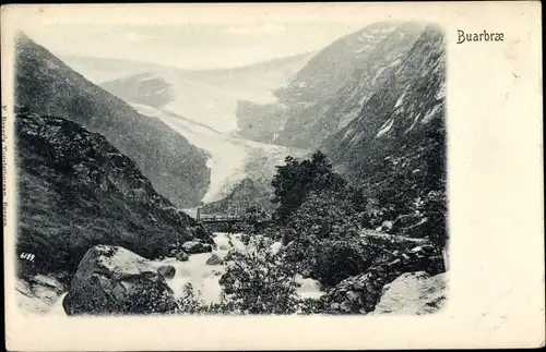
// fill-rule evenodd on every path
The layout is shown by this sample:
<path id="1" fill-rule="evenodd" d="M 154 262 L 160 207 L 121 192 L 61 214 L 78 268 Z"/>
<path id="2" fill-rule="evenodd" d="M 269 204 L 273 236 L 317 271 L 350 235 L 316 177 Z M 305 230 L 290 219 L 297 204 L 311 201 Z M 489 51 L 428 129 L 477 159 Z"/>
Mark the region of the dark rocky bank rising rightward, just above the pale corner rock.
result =
<path id="1" fill-rule="evenodd" d="M 378 304 L 383 287 L 404 272 L 437 275 L 443 262 L 431 246 L 422 245 L 378 263 L 366 272 L 337 283 L 320 300 L 320 311 L 331 314 L 367 314 Z"/>

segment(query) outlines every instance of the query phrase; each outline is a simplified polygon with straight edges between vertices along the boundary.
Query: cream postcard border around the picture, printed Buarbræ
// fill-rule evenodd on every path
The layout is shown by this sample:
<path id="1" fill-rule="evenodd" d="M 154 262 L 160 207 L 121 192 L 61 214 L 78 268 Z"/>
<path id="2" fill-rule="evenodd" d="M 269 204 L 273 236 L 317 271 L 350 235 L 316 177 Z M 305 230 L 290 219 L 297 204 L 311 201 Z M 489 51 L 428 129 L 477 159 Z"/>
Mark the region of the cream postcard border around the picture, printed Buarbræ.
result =
<path id="1" fill-rule="evenodd" d="M 430 316 L 29 318 L 14 304 L 13 223 L 4 234 L 10 350 L 406 349 L 544 345 L 539 2 L 102 4 L 2 7 L 2 104 L 12 31 L 44 23 L 253 23 L 419 20 L 448 41 L 451 271 Z M 456 45 L 456 29 L 503 43 Z M 309 34 L 312 35 L 312 34 Z M 9 135 L 12 125 L 7 125 Z M 12 157 L 10 147 L 8 157 Z M 13 166 L 8 182 L 13 185 Z M 13 187 L 8 202 L 14 204 Z M 11 227 L 11 228 L 10 228 Z"/>

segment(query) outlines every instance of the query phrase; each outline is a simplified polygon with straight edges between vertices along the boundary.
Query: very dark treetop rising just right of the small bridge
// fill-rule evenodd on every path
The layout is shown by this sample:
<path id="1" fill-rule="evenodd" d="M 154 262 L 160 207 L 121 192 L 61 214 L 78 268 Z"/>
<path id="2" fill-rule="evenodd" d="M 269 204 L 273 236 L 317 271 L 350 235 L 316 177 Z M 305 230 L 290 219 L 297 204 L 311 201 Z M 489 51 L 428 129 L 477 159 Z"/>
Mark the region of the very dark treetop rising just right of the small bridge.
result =
<path id="1" fill-rule="evenodd" d="M 316 151 L 311 160 L 297 161 L 286 157 L 285 165 L 278 166 L 271 185 L 274 189 L 273 203 L 280 204 L 274 218 L 285 223 L 288 217 L 304 203 L 311 191 L 343 189 L 346 181 L 333 171 L 328 157 Z"/>

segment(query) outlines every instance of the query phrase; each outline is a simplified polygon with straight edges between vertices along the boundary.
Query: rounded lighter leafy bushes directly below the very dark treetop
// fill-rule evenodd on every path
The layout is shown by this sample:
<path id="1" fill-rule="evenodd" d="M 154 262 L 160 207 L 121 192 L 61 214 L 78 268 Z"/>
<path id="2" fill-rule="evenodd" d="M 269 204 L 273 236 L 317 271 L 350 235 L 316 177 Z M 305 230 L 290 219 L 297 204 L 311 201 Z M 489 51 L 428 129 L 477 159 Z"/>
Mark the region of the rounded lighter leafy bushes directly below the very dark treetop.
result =
<path id="1" fill-rule="evenodd" d="M 287 258 L 327 287 L 363 272 L 375 255 L 358 238 L 367 222 L 364 204 L 351 187 L 311 191 L 283 231 Z"/>

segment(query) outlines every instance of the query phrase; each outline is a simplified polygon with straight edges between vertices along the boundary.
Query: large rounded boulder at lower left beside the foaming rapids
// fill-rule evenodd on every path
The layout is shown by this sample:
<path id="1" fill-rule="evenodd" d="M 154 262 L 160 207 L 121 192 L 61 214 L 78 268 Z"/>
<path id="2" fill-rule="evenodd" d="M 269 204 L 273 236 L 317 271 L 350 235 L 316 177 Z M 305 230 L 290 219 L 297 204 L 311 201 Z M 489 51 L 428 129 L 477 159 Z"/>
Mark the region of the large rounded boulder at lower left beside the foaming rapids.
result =
<path id="1" fill-rule="evenodd" d="M 68 315 L 152 314 L 176 307 L 164 276 L 119 246 L 96 245 L 78 266 L 62 306 Z"/>

